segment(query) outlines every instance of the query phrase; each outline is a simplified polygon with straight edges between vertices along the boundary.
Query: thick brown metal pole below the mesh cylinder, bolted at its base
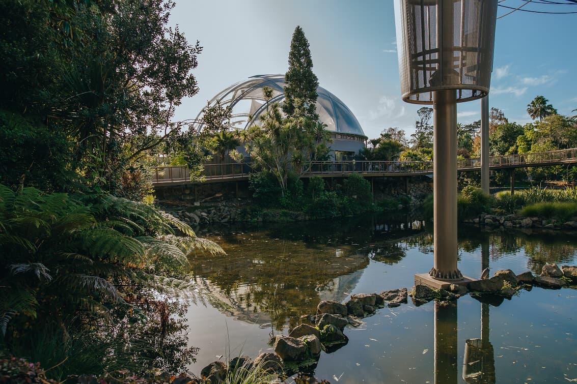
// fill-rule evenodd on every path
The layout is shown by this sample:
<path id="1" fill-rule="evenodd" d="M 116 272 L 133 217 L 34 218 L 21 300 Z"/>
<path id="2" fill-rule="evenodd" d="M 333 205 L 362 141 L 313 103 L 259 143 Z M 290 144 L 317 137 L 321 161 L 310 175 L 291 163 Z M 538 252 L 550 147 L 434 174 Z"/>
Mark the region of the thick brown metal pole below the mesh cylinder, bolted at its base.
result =
<path id="1" fill-rule="evenodd" d="M 434 92 L 433 244 L 429 275 L 463 277 L 457 268 L 457 105 L 455 91 Z"/>

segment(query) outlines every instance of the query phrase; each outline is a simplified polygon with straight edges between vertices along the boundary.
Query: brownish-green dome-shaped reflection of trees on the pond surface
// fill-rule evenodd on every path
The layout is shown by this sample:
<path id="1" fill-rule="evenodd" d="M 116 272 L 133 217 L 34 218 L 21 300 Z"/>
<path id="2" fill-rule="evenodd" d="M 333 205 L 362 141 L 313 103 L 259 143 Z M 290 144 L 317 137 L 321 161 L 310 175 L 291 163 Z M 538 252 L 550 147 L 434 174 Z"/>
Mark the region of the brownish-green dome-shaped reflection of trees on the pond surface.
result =
<path id="1" fill-rule="evenodd" d="M 338 296 L 338 278 L 364 269 L 366 255 L 352 246 L 311 250 L 303 242 L 271 239 L 257 232 L 238 234 L 224 244 L 225 257 L 193 259 L 192 271 L 222 292 L 234 308 L 231 314 L 251 321 L 271 321 L 282 329 L 297 325 L 302 314 L 314 313 L 320 293 Z"/>

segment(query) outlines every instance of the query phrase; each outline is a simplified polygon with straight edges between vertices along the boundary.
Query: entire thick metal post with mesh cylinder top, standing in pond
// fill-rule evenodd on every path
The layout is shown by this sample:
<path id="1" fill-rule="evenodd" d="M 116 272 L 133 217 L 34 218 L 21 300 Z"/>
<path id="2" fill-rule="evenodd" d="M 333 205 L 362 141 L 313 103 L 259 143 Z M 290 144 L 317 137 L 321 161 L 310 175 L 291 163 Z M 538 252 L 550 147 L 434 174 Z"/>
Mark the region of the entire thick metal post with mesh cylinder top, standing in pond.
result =
<path id="1" fill-rule="evenodd" d="M 456 103 L 489 93 L 497 0 L 397 0 L 403 100 L 433 104 L 434 265 L 419 284 L 463 281 L 457 268 Z"/>

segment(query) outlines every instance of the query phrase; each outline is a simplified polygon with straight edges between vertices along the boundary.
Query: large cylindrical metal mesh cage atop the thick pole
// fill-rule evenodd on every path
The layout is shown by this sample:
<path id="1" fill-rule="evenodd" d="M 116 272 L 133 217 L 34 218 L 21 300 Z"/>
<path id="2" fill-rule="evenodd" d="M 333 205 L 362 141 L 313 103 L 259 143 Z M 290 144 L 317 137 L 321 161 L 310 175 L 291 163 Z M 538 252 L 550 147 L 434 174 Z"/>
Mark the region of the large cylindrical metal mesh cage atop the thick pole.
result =
<path id="1" fill-rule="evenodd" d="M 497 0 L 397 0 L 395 23 L 403 100 L 432 104 L 433 92 L 456 101 L 489 93 Z"/>

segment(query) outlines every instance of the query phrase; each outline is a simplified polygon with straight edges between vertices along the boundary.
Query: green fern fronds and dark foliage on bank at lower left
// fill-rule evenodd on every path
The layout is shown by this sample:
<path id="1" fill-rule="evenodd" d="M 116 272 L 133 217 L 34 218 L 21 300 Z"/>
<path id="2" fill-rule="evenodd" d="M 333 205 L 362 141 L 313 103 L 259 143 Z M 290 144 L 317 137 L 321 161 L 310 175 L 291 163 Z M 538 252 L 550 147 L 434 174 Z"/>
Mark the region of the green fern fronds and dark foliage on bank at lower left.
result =
<path id="1" fill-rule="evenodd" d="M 69 360 L 62 374 L 126 367 L 122 356 L 129 356 L 134 369 L 152 364 L 164 341 L 151 334 L 182 330 L 158 295 L 197 298 L 197 287 L 175 278 L 197 250 L 223 253 L 151 206 L 96 193 L 44 194 L 29 187 L 14 193 L 0 185 L 2 347 L 48 366 Z M 153 318 L 164 331 L 150 329 Z M 141 326 L 132 327 L 135 323 Z M 151 334 L 139 333 L 145 330 Z M 158 344 L 144 352 L 152 340 Z M 172 353 L 175 362 L 190 357 L 188 352 L 177 357 L 174 347 L 162 353 Z"/>

